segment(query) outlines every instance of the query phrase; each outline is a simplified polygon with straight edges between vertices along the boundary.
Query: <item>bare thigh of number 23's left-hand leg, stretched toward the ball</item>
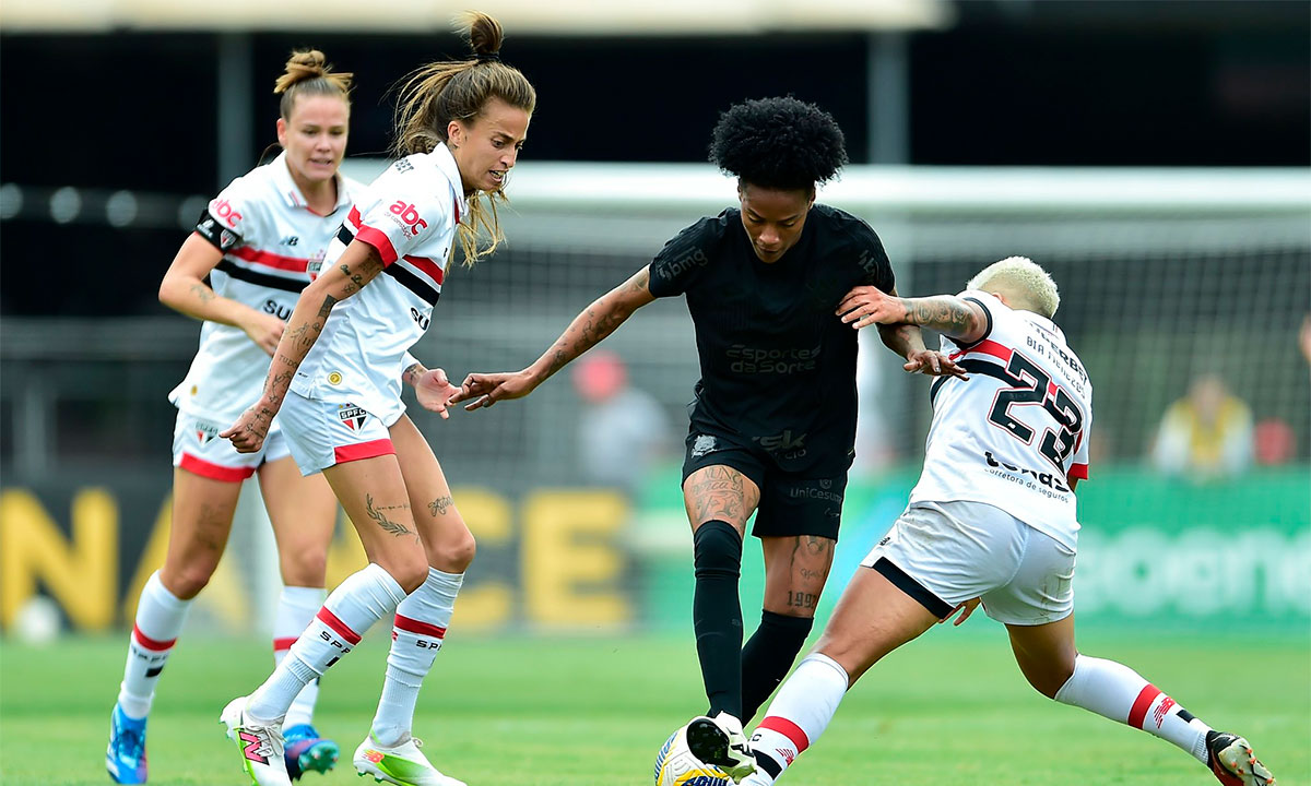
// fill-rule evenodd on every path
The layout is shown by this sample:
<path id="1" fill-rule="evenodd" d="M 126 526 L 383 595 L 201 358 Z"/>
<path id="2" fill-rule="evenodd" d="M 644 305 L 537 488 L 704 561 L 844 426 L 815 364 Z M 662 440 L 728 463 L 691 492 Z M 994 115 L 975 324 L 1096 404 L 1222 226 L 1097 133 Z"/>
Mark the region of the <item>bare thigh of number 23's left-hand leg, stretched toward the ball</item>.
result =
<path id="1" fill-rule="evenodd" d="M 836 660 L 855 684 L 869 667 L 924 633 L 937 617 L 876 570 L 857 567 L 838 600 L 817 652 Z"/>

